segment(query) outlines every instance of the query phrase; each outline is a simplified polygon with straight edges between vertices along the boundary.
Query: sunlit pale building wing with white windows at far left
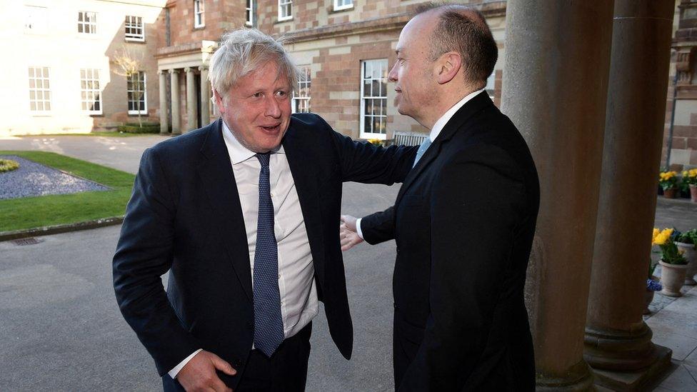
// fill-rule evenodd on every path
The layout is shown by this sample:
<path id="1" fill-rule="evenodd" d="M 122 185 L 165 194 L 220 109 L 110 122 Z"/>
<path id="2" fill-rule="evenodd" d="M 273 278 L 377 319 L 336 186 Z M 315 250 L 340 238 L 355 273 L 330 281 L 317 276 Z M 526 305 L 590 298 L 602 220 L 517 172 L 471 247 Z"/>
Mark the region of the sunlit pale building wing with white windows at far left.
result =
<path id="1" fill-rule="evenodd" d="M 164 0 L 4 1 L 0 136 L 84 133 L 141 118 L 158 121 L 151 54 L 161 41 Z M 139 61 L 124 76 L 114 60 Z M 129 80 L 130 79 L 130 80 Z"/>

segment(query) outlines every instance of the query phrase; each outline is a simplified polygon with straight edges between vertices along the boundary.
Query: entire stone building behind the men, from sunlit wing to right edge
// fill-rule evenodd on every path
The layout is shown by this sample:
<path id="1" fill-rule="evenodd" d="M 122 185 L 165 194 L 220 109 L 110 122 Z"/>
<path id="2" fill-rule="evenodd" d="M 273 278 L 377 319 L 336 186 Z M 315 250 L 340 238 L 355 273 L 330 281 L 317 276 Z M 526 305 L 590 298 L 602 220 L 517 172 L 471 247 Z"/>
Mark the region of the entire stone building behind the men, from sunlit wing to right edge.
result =
<path id="1" fill-rule="evenodd" d="M 196 129 L 218 116 L 207 81 L 209 57 L 221 34 L 240 26 L 289 38 L 286 47 L 303 71 L 294 111 L 320 114 L 356 139 L 423 133 L 423 127 L 396 112 L 395 93 L 386 81 L 399 31 L 413 7 L 423 2 L 9 2 L 8 12 L 0 16 L 6 37 L 0 46 L 3 53 L 18 56 L 0 75 L 8 91 L 14 91 L 0 95 L 0 135 L 111 130 L 137 121 L 139 112 L 159 121 L 163 134 Z M 498 43 L 499 59 L 486 89 L 499 105 L 506 1 L 458 2 L 483 12 Z M 697 0 L 676 0 L 674 24 L 661 166 L 679 170 L 697 166 Z M 142 74 L 130 83 L 114 63 L 124 51 L 141 61 Z"/>

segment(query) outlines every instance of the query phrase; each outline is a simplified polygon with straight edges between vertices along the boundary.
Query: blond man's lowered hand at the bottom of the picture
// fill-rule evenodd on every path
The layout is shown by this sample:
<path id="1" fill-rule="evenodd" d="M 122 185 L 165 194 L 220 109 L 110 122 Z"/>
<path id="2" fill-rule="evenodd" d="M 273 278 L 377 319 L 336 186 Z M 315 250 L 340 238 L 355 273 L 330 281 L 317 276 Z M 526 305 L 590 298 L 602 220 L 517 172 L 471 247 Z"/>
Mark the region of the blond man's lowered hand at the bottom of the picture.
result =
<path id="1" fill-rule="evenodd" d="M 234 376 L 237 371 L 229 363 L 209 351 L 200 351 L 181 368 L 176 379 L 186 391 L 232 392 L 216 375 L 216 369 Z"/>

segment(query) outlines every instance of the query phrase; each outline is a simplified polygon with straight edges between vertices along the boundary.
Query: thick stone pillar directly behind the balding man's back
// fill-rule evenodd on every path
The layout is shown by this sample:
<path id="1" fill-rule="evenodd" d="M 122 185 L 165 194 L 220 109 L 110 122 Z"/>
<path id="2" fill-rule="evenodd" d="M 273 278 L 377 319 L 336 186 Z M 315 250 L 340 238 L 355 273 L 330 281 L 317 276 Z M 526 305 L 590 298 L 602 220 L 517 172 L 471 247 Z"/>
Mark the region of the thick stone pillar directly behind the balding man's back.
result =
<path id="1" fill-rule="evenodd" d="M 603 149 L 612 1 L 509 0 L 502 111 L 528 142 L 541 203 L 526 307 L 539 391 L 584 391 L 588 285 Z"/>

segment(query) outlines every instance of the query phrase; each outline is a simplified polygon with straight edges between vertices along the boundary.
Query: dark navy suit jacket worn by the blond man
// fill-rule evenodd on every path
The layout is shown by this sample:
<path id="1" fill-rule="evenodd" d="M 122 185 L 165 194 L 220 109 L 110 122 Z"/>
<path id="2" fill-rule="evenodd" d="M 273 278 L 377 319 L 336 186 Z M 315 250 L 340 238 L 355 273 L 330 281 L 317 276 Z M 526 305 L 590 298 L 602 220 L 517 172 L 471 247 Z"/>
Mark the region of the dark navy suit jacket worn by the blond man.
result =
<path id="1" fill-rule="evenodd" d="M 221 124 L 145 151 L 114 256 L 121 312 L 166 387 L 171 384 L 166 373 L 198 348 L 221 356 L 241 374 L 254 337 L 246 230 Z M 356 143 L 314 114 L 293 115 L 282 143 L 319 299 L 331 337 L 349 358 L 353 330 L 339 244 L 342 181 L 401 182 L 416 151 Z M 160 276 L 168 270 L 165 292 Z M 232 387 L 239 381 L 222 378 Z"/>

